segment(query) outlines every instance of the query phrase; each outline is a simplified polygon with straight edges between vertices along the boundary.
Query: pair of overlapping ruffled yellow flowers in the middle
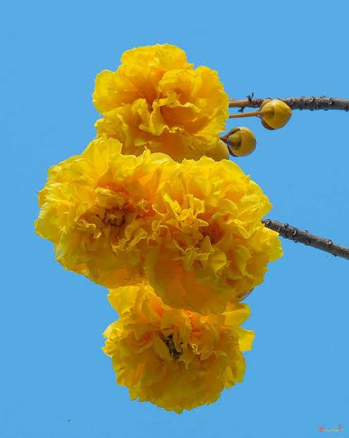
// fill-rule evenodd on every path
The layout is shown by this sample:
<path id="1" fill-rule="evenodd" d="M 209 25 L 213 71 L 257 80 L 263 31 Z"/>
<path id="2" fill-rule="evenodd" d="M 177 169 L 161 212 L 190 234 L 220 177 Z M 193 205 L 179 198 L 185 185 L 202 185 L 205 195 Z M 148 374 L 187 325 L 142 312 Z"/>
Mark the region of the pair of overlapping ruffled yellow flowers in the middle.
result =
<path id="1" fill-rule="evenodd" d="M 147 276 L 166 304 L 221 313 L 281 256 L 262 190 L 232 161 L 121 154 L 102 136 L 49 170 L 35 227 L 56 259 L 117 288 Z"/>

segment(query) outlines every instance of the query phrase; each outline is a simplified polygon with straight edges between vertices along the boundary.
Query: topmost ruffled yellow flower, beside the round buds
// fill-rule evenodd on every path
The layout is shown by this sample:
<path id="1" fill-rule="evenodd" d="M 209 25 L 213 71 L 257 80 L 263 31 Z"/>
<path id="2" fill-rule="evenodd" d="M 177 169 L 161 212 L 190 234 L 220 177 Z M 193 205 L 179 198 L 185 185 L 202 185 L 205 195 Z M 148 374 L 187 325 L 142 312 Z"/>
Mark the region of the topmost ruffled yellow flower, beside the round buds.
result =
<path id="1" fill-rule="evenodd" d="M 167 44 L 128 50 L 121 63 L 96 78 L 93 102 L 104 116 L 97 136 L 117 138 L 125 154 L 147 147 L 177 161 L 216 158 L 228 118 L 228 95 L 216 71 L 193 69 L 183 50 Z"/>

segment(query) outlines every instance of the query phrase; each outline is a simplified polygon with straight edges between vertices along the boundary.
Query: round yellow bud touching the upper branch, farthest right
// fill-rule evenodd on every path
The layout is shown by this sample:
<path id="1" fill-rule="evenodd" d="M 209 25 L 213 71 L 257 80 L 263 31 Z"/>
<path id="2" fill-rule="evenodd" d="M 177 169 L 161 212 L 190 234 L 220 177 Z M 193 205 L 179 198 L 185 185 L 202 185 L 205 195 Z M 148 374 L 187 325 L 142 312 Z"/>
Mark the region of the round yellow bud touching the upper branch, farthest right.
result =
<path id="1" fill-rule="evenodd" d="M 259 117 L 262 120 L 262 125 L 267 129 L 279 129 L 286 125 L 292 110 L 290 107 L 278 99 L 263 100 L 260 107 Z"/>

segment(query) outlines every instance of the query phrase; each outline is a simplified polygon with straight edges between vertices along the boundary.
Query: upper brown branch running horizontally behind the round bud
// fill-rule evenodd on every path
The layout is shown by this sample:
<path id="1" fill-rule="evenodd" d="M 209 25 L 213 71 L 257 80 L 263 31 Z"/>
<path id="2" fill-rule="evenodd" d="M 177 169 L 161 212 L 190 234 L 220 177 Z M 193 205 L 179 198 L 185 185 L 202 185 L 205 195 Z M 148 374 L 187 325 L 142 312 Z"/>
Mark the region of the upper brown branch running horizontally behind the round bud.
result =
<path id="1" fill-rule="evenodd" d="M 278 97 L 285 102 L 290 109 L 341 109 L 349 111 L 349 99 L 341 97 L 326 97 L 326 96 L 309 96 L 309 97 Z M 247 99 L 231 99 L 229 107 L 231 108 L 259 108 L 264 99 L 254 99 L 252 96 L 247 96 Z M 241 111 L 242 112 L 242 111 Z"/>

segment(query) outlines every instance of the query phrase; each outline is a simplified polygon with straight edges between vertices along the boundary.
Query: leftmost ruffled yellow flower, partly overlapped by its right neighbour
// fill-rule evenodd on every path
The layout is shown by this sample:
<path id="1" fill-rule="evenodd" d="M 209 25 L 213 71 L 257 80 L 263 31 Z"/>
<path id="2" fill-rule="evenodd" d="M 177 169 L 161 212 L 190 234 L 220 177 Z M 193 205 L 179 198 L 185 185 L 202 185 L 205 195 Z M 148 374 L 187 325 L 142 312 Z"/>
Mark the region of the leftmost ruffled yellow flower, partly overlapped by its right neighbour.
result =
<path id="1" fill-rule="evenodd" d="M 98 138 L 81 155 L 51 167 L 35 229 L 54 242 L 66 269 L 101 285 L 125 284 L 142 273 L 152 198 L 171 164 L 149 151 L 121 155 L 117 140 Z"/>

